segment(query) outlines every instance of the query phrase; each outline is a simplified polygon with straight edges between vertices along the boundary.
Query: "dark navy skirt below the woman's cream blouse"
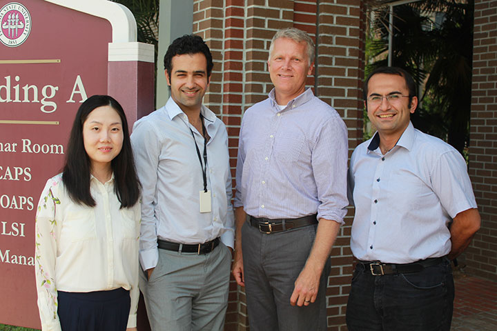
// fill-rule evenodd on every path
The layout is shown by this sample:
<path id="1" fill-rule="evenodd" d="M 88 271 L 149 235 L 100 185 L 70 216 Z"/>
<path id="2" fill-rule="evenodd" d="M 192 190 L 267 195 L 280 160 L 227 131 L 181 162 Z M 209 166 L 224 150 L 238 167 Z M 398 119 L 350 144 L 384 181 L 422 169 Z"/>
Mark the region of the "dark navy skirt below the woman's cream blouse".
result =
<path id="1" fill-rule="evenodd" d="M 130 293 L 124 288 L 98 292 L 57 292 L 62 331 L 125 331 Z"/>

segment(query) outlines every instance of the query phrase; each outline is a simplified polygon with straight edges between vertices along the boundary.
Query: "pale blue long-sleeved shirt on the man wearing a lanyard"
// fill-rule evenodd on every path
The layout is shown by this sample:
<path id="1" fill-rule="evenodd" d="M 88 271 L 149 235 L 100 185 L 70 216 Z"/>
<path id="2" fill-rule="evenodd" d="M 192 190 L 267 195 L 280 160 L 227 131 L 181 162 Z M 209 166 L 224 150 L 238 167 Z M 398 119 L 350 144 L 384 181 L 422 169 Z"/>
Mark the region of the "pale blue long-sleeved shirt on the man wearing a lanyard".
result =
<path id="1" fill-rule="evenodd" d="M 226 127 L 202 106 L 208 136 L 207 189 L 212 211 L 199 212 L 199 192 L 204 188 L 195 143 L 204 151 L 204 137 L 188 117 L 169 99 L 133 126 L 131 141 L 139 180 L 142 183 L 142 229 L 140 263 L 155 268 L 157 238 L 175 243 L 204 243 L 217 237 L 233 248 L 234 216 Z M 202 165 L 203 165 L 202 157 Z"/>

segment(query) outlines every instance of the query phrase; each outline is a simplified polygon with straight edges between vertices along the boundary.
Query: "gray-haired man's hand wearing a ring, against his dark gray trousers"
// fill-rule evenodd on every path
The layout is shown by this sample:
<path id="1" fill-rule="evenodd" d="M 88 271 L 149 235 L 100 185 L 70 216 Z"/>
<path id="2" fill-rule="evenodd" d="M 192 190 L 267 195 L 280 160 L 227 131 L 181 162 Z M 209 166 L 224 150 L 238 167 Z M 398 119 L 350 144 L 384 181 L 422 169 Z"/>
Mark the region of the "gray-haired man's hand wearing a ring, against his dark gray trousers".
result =
<path id="1" fill-rule="evenodd" d="M 291 305 L 309 305 L 318 297 L 321 272 L 306 265 L 295 281 L 295 288 L 290 298 Z"/>

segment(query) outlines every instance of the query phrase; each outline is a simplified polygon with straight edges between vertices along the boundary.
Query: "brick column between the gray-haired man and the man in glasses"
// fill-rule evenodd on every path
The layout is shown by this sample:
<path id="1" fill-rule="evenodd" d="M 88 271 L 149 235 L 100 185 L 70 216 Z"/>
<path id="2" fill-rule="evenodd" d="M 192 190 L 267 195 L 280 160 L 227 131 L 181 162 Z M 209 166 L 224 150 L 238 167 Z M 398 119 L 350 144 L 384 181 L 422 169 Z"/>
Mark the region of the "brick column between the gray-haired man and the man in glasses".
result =
<path id="1" fill-rule="evenodd" d="M 360 0 L 322 2 L 318 25 L 318 92 L 347 124 L 349 157 L 362 143 L 362 79 L 364 79 L 365 9 Z M 345 308 L 350 291 L 352 252 L 350 234 L 353 210 L 331 252 L 327 294 L 329 330 L 347 330 Z"/>

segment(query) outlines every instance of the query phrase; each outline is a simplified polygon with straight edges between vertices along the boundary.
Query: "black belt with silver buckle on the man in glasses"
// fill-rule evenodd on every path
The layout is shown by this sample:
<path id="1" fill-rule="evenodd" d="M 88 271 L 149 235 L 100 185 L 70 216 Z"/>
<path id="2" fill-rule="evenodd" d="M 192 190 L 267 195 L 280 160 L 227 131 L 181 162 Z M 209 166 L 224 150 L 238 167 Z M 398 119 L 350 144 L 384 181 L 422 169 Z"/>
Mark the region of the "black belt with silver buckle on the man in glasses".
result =
<path id="1" fill-rule="evenodd" d="M 381 263 L 380 261 L 358 261 L 358 264 L 364 265 L 365 270 L 371 271 L 373 276 L 383 276 L 384 274 L 409 274 L 420 272 L 421 270 L 442 263 L 445 257 L 432 257 L 413 263 L 395 264 Z"/>

